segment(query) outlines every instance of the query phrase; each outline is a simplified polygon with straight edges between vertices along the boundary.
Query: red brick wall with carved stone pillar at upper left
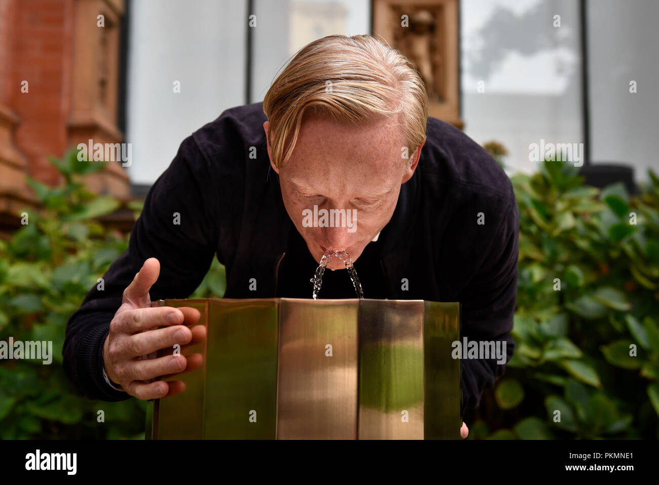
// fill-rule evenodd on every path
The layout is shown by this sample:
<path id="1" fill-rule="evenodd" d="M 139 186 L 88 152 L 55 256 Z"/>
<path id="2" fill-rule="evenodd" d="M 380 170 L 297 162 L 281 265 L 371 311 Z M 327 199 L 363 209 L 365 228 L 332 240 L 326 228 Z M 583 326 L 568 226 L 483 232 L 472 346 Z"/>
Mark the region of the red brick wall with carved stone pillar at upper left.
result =
<path id="1" fill-rule="evenodd" d="M 117 127 L 123 0 L 0 0 L 0 231 L 34 207 L 25 176 L 56 185 L 48 157 Z M 91 190 L 130 198 L 119 162 L 88 177 Z"/>

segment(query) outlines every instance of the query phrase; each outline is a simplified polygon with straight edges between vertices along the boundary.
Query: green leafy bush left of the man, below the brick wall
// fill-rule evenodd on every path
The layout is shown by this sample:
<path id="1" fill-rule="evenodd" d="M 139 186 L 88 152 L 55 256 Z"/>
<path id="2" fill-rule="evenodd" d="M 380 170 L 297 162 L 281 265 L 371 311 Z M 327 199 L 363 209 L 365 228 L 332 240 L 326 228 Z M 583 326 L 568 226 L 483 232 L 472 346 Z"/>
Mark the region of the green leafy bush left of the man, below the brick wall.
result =
<path id="1" fill-rule="evenodd" d="M 0 242 L 0 340 L 53 342 L 49 365 L 0 361 L 3 440 L 144 436 L 144 401 L 83 399 L 61 366 L 69 316 L 128 243 L 93 220 L 119 203 L 96 196 L 78 180 L 104 164 L 78 161 L 76 154 L 51 159 L 63 175 L 61 186 L 51 188 L 28 177 L 42 213 L 24 211 L 23 227 L 10 241 Z"/>

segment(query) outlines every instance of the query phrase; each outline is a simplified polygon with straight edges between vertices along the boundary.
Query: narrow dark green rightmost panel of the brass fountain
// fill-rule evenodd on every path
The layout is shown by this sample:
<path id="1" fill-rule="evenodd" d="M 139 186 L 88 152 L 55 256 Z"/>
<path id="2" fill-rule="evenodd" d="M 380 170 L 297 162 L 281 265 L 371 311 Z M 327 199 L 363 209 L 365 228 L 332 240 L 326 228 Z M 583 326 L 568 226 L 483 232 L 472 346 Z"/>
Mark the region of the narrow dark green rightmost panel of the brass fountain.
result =
<path id="1" fill-rule="evenodd" d="M 424 439 L 459 439 L 460 360 L 451 344 L 460 339 L 460 304 L 424 302 Z"/>

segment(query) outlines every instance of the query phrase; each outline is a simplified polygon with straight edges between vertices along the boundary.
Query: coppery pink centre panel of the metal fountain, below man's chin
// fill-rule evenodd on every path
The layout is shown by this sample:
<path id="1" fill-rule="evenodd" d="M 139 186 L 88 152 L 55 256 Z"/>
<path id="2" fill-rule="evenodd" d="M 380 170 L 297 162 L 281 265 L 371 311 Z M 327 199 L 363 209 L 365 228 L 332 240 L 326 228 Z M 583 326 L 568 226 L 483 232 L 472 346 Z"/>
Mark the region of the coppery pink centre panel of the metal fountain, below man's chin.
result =
<path id="1" fill-rule="evenodd" d="M 278 439 L 357 438 L 358 301 L 281 299 Z"/>

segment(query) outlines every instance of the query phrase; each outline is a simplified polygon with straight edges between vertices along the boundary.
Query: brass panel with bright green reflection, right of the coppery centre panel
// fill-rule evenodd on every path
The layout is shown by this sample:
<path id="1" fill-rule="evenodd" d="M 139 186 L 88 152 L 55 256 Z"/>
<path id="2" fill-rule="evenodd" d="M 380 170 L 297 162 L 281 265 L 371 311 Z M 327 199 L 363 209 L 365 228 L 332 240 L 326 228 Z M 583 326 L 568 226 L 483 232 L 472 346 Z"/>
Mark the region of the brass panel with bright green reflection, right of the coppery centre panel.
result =
<path id="1" fill-rule="evenodd" d="M 422 440 L 423 301 L 359 302 L 359 439 Z"/>

